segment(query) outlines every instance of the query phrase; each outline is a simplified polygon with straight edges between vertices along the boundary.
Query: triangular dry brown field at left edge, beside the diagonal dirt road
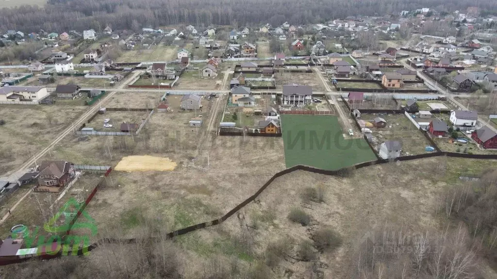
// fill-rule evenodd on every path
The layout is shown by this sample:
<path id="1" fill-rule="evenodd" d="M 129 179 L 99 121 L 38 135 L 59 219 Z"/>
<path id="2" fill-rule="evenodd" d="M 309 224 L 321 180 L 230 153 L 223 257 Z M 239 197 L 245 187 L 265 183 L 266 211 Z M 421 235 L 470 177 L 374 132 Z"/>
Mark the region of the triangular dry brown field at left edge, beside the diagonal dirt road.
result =
<path id="1" fill-rule="evenodd" d="M 0 173 L 12 171 L 57 138 L 83 106 L 1 105 Z"/>

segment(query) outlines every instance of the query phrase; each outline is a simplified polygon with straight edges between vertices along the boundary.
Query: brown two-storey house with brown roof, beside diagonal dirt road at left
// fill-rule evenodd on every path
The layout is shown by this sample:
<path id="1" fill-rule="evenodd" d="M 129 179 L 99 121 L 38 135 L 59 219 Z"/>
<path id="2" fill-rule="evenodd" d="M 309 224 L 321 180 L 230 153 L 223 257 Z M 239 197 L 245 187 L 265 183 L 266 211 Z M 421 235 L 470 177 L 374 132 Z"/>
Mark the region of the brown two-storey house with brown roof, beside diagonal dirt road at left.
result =
<path id="1" fill-rule="evenodd" d="M 43 161 L 38 170 L 34 188 L 38 192 L 58 193 L 76 175 L 73 163 L 67 161 Z"/>

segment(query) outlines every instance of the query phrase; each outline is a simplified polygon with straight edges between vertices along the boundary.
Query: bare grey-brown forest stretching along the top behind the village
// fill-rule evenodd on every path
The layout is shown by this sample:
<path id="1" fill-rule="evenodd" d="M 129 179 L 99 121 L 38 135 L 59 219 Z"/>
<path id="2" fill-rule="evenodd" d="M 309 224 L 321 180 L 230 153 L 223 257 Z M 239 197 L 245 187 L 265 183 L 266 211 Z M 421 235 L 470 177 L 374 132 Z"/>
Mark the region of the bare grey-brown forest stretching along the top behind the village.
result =
<path id="1" fill-rule="evenodd" d="M 422 7 L 464 11 L 468 6 L 497 10 L 495 0 L 49 0 L 45 7 L 20 6 L 0 10 L 1 26 L 33 32 L 62 33 L 92 28 L 138 30 L 188 23 L 195 26 L 256 27 L 318 23 L 348 15 L 374 16 Z"/>

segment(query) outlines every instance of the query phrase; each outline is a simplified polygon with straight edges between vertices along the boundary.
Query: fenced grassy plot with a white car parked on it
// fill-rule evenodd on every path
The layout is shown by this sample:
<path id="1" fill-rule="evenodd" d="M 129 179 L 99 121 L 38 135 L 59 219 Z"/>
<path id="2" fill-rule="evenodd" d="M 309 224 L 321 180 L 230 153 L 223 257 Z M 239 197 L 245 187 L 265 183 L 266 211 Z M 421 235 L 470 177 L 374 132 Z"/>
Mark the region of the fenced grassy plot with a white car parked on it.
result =
<path id="1" fill-rule="evenodd" d="M 120 126 L 123 122 L 140 125 L 142 119 L 145 119 L 147 115 L 148 113 L 144 111 L 107 111 L 105 114 L 97 114 L 90 123 L 86 123 L 86 127 L 93 128 L 95 131 L 120 132 Z M 103 127 L 105 119 L 109 119 L 108 124 L 112 127 Z"/>

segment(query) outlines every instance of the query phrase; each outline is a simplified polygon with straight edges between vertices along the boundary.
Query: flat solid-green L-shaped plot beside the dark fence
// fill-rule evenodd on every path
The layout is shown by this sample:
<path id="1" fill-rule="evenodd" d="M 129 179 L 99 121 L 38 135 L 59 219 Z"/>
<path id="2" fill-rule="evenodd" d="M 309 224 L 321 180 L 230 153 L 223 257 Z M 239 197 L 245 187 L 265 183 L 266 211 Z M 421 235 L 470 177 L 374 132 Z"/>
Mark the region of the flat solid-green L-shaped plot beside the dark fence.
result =
<path id="1" fill-rule="evenodd" d="M 287 167 L 336 170 L 376 156 L 364 139 L 344 139 L 338 119 L 328 115 L 281 115 Z"/>

